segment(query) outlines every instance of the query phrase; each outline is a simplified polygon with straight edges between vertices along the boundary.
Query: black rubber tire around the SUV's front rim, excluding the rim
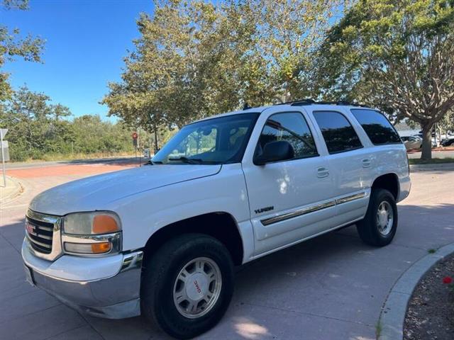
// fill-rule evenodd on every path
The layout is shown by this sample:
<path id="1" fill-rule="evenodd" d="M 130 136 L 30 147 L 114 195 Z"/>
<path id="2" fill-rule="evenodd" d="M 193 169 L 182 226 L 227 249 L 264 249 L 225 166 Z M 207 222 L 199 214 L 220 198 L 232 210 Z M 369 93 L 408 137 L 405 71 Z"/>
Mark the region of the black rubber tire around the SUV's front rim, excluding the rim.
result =
<path id="1" fill-rule="evenodd" d="M 191 319 L 177 310 L 173 294 L 182 268 L 199 257 L 216 263 L 222 284 L 211 310 Z M 233 262 L 221 242 L 204 234 L 182 234 L 161 246 L 153 256 L 147 258 L 145 254 L 140 287 L 141 312 L 148 322 L 157 324 L 170 336 L 191 339 L 214 327 L 223 317 L 231 302 L 233 284 Z"/>

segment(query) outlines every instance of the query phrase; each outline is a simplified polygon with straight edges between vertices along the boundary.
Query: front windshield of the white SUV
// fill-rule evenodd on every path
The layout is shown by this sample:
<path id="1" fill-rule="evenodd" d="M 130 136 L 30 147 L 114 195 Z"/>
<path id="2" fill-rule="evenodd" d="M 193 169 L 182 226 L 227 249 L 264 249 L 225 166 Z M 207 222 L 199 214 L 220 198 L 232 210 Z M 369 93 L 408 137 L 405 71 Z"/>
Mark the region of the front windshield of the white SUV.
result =
<path id="1" fill-rule="evenodd" d="M 153 157 L 153 164 L 238 163 L 258 113 L 240 113 L 186 125 Z"/>

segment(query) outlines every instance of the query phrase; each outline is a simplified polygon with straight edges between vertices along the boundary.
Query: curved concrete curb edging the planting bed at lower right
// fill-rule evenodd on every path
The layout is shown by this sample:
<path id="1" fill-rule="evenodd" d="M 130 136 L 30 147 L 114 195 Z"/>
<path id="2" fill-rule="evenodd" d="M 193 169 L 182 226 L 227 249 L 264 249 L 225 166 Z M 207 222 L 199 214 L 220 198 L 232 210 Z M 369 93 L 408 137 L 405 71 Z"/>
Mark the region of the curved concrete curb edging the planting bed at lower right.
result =
<path id="1" fill-rule="evenodd" d="M 380 313 L 378 340 L 402 340 L 406 307 L 419 280 L 438 261 L 454 253 L 454 242 L 442 246 L 434 254 L 424 256 L 408 268 L 392 287 Z"/>

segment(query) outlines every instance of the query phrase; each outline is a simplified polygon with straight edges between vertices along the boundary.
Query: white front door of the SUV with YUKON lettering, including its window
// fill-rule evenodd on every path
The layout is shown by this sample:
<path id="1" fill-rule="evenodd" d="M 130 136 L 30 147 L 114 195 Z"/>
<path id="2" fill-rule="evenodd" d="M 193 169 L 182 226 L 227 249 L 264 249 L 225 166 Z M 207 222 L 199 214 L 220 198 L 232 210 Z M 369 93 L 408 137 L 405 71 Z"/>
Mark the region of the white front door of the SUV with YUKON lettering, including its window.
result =
<path id="1" fill-rule="evenodd" d="M 250 138 L 243 172 L 248 188 L 250 216 L 255 234 L 255 256 L 314 236 L 336 225 L 333 176 L 326 154 L 314 138 L 314 126 L 305 112 L 295 108 L 264 111 Z M 282 109 L 281 109 L 282 110 Z M 284 140 L 294 158 L 255 165 L 268 142 Z"/>

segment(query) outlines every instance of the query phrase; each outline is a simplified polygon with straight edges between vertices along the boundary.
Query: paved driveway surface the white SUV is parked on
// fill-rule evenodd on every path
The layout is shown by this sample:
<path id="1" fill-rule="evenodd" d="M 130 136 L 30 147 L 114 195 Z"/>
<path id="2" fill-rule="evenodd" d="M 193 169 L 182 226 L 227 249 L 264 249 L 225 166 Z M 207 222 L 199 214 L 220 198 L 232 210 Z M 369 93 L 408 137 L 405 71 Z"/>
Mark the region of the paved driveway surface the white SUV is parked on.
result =
<path id="1" fill-rule="evenodd" d="M 26 192 L 1 206 L 0 339 L 167 339 L 140 317 L 84 317 L 25 282 L 19 251 L 28 202 L 80 176 L 35 171 L 21 179 Z M 428 249 L 454 242 L 454 171 L 418 171 L 412 180 L 392 244 L 366 246 L 350 227 L 248 263 L 238 268 L 226 316 L 200 339 L 375 339 L 394 282 Z"/>

